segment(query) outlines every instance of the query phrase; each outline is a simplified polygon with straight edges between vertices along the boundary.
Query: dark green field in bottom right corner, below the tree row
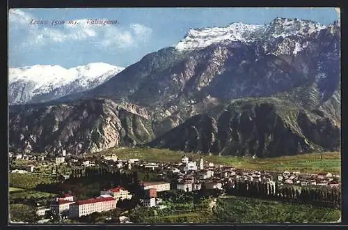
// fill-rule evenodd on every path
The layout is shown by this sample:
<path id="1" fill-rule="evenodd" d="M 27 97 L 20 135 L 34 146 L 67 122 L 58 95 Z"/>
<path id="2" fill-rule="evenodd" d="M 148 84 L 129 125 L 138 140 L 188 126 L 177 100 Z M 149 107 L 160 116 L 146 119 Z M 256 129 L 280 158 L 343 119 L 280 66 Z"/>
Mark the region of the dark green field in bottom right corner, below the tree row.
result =
<path id="1" fill-rule="evenodd" d="M 219 198 L 214 207 L 215 223 L 324 223 L 337 222 L 341 211 L 303 204 L 286 204 L 243 197 Z"/>

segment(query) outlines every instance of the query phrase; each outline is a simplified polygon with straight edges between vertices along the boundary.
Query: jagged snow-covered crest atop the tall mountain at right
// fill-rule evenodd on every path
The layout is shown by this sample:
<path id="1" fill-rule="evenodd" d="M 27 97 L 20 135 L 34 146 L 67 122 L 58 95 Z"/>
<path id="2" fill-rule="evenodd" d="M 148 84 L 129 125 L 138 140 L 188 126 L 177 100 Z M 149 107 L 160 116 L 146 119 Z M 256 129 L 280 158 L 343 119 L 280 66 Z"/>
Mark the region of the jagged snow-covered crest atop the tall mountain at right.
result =
<path id="1" fill-rule="evenodd" d="M 197 49 L 207 47 L 224 40 L 253 42 L 261 38 L 283 38 L 295 34 L 306 36 L 326 28 L 317 22 L 308 20 L 285 19 L 277 17 L 269 24 L 232 23 L 227 27 L 212 27 L 190 29 L 187 35 L 177 45 L 176 49 Z"/>

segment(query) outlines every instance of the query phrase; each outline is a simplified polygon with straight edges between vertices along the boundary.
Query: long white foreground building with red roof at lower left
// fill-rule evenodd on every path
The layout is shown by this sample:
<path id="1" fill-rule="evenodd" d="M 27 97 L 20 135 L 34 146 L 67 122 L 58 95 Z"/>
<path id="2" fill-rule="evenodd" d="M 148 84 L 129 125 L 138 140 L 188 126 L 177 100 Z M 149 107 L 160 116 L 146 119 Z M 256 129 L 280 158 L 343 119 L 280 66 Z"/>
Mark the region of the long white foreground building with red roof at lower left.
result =
<path id="1" fill-rule="evenodd" d="M 70 204 L 69 217 L 81 217 L 95 212 L 104 212 L 116 208 L 116 199 L 113 197 L 97 197 Z"/>

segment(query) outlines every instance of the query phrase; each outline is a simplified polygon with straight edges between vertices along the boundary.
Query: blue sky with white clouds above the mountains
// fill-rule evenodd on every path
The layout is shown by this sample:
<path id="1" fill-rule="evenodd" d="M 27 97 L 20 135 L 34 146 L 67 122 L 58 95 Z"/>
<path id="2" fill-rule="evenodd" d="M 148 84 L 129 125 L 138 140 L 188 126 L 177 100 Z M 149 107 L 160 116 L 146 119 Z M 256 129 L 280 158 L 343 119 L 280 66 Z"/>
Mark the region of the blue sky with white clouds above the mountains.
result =
<path id="1" fill-rule="evenodd" d="M 176 45 L 191 28 L 233 22 L 268 24 L 276 17 L 330 24 L 337 8 L 40 8 L 10 9 L 8 66 L 64 68 L 104 62 L 127 67 L 148 53 Z M 52 20 L 77 24 L 52 24 Z M 89 20 L 89 21 L 88 21 Z M 113 24 L 90 24 L 111 20 Z M 47 24 L 31 24 L 31 22 Z M 115 24 L 115 22 L 117 22 Z"/>

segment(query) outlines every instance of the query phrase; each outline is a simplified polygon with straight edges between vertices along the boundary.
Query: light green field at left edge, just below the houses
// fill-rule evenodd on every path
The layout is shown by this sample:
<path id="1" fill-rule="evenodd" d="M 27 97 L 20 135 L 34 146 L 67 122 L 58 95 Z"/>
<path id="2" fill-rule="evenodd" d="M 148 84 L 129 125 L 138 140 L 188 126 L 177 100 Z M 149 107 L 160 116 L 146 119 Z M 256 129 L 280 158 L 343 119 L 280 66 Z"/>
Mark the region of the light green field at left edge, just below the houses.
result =
<path id="1" fill-rule="evenodd" d="M 31 190 L 40 183 L 53 183 L 54 176 L 40 174 L 9 174 L 10 187 Z"/>

